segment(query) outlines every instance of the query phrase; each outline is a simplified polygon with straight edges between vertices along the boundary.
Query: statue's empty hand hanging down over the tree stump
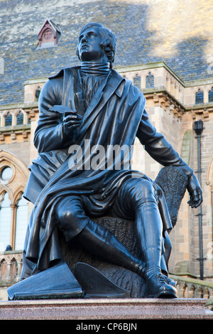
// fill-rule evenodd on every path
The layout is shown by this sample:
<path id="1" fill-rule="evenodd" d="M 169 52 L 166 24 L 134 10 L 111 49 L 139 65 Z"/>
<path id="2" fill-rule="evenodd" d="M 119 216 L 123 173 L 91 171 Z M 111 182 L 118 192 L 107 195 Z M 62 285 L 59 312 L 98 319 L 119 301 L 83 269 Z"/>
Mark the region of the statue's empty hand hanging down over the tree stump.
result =
<path id="1" fill-rule="evenodd" d="M 197 208 L 200 206 L 202 203 L 202 189 L 194 173 L 189 177 L 187 190 L 190 194 L 190 200 L 188 201 L 190 207 Z"/>

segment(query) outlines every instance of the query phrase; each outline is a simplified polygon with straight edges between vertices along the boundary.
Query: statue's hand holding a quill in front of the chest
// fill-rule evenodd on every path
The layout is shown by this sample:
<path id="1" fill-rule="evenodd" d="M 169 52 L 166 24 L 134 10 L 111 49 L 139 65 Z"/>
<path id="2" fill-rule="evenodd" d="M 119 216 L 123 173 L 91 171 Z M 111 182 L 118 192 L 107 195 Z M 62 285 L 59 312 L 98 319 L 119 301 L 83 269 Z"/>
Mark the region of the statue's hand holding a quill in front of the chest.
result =
<path id="1" fill-rule="evenodd" d="M 70 136 L 72 129 L 82 124 L 82 116 L 76 110 L 65 112 L 62 119 L 62 131 L 64 136 Z"/>

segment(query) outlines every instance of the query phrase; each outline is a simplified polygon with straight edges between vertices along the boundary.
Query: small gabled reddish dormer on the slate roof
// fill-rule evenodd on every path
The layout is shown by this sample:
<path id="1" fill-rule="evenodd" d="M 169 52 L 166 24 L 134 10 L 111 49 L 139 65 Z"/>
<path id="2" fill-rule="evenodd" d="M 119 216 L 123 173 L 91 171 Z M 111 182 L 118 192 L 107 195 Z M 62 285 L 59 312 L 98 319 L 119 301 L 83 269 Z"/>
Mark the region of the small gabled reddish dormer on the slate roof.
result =
<path id="1" fill-rule="evenodd" d="M 60 26 L 47 19 L 38 33 L 38 48 L 49 48 L 58 45 L 61 36 Z"/>

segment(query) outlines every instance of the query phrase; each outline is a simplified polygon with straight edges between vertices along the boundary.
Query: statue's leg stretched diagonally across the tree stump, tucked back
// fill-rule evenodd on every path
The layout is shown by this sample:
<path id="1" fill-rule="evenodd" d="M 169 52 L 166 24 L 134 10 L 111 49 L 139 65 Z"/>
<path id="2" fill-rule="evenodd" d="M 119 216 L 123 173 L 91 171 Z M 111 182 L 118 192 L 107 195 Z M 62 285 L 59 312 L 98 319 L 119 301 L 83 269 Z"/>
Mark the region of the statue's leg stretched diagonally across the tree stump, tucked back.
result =
<path id="1" fill-rule="evenodd" d="M 64 198 L 55 213 L 67 242 L 75 236 L 85 249 L 97 257 L 142 276 L 145 268 L 143 261 L 133 257 L 106 227 L 87 217 L 80 197 Z"/>

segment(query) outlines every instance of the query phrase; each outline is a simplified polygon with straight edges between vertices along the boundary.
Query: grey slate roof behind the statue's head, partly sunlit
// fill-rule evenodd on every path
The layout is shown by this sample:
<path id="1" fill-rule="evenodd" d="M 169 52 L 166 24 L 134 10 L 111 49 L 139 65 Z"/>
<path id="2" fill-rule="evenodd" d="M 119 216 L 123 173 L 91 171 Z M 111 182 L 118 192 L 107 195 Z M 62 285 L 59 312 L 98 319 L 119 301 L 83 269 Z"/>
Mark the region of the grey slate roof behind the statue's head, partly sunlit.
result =
<path id="1" fill-rule="evenodd" d="M 0 104 L 23 103 L 26 80 L 48 77 L 60 68 L 78 65 L 75 55 L 77 37 L 84 23 L 90 21 L 102 23 L 114 31 L 118 40 L 116 67 L 165 61 L 185 82 L 212 77 L 212 71 L 209 71 L 209 61 L 212 59 L 213 63 L 210 58 L 213 56 L 211 26 L 207 27 L 209 34 L 207 28 L 185 34 L 180 27 L 182 38 L 178 37 L 176 21 L 171 24 L 171 17 L 167 21 L 168 12 L 160 7 L 165 2 L 169 10 L 170 1 L 161 0 L 1 0 L 0 57 L 4 60 L 4 72 L 1 68 Z M 206 3 L 203 14 L 195 15 L 201 27 L 205 11 L 211 15 L 213 6 L 211 1 L 194 2 Z M 60 25 L 62 37 L 57 47 L 39 49 L 38 32 L 46 18 Z M 211 16 L 206 18 L 208 22 L 212 20 Z M 161 28 L 164 23 L 168 25 L 168 41 Z"/>

